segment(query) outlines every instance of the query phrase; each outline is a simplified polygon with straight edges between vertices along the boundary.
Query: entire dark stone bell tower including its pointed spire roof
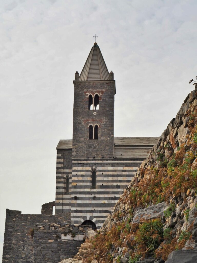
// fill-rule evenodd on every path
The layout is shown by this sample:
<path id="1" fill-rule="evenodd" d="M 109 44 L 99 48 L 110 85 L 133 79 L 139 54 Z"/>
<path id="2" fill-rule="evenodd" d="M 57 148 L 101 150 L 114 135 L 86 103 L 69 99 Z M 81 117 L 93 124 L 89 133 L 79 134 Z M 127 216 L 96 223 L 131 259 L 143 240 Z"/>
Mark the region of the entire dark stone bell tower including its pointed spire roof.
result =
<path id="1" fill-rule="evenodd" d="M 116 87 L 97 43 L 73 83 L 72 158 L 113 158 Z"/>

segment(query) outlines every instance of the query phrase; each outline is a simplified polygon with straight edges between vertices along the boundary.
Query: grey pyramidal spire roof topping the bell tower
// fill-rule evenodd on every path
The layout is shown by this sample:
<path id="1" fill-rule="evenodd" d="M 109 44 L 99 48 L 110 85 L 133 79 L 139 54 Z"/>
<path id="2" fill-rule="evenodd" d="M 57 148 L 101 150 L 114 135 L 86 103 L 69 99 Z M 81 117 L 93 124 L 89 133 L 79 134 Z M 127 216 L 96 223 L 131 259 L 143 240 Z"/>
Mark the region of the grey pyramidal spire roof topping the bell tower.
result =
<path id="1" fill-rule="evenodd" d="M 97 43 L 90 50 L 79 80 L 109 80 L 109 72 Z"/>

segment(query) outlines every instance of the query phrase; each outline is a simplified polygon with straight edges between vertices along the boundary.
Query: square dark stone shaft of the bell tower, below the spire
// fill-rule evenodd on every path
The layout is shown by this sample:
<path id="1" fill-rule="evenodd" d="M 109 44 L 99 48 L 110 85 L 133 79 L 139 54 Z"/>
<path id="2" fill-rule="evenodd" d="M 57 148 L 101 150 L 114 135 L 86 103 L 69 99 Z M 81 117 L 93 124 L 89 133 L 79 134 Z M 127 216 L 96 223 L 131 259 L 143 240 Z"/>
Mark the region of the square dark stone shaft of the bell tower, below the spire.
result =
<path id="1" fill-rule="evenodd" d="M 115 81 L 74 81 L 73 158 L 112 158 Z M 88 94 L 99 94 L 99 109 L 88 109 Z M 94 115 L 96 112 L 96 115 Z M 98 139 L 89 140 L 89 124 L 98 124 Z"/>

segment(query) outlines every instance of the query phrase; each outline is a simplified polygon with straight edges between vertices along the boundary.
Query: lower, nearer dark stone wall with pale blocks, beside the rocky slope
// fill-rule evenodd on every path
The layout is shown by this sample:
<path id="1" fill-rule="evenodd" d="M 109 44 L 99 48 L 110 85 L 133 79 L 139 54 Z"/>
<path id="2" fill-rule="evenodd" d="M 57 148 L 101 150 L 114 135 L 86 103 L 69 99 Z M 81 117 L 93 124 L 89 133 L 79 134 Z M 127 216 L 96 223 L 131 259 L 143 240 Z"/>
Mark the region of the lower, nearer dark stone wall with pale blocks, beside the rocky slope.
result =
<path id="1" fill-rule="evenodd" d="M 90 226 L 36 224 L 33 239 L 33 263 L 58 263 L 74 256 L 86 238 Z"/>

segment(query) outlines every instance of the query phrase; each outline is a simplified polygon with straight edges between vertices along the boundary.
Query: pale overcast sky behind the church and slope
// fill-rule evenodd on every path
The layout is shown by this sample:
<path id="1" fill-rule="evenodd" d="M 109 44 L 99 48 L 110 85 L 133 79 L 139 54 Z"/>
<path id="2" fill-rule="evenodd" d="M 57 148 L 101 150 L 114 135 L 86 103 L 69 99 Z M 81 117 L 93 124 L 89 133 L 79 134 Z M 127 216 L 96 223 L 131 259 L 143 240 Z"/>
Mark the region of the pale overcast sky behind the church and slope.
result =
<path id="1" fill-rule="evenodd" d="M 115 136 L 160 136 L 194 89 L 196 0 L 0 1 L 0 258 L 6 208 L 55 200 L 74 74 L 95 40 L 114 73 Z"/>

